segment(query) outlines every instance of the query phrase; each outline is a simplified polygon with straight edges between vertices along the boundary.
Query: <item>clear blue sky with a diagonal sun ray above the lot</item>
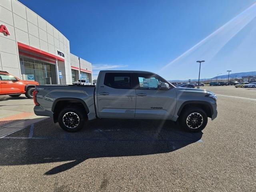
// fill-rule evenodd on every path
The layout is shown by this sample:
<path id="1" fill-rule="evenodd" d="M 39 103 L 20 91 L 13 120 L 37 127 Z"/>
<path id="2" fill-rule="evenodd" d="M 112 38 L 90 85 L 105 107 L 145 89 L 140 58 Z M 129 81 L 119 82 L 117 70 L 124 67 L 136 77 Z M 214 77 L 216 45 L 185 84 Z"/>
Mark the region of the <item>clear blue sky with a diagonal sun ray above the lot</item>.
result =
<path id="1" fill-rule="evenodd" d="M 70 52 L 92 62 L 94 77 L 123 69 L 194 79 L 196 60 L 206 60 L 202 78 L 256 71 L 255 0 L 20 2 L 62 32 Z"/>

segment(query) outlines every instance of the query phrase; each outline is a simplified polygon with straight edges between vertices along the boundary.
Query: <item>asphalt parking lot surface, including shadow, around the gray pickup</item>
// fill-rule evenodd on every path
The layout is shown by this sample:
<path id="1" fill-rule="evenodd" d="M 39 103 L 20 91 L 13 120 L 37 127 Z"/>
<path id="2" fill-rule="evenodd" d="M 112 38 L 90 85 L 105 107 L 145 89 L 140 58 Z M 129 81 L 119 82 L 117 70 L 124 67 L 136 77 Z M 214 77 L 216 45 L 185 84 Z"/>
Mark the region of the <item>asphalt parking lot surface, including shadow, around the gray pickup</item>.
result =
<path id="1" fill-rule="evenodd" d="M 67 133 L 46 119 L 0 138 L 0 191 L 256 191 L 256 89 L 203 88 L 218 117 L 196 134 L 152 120 Z"/>

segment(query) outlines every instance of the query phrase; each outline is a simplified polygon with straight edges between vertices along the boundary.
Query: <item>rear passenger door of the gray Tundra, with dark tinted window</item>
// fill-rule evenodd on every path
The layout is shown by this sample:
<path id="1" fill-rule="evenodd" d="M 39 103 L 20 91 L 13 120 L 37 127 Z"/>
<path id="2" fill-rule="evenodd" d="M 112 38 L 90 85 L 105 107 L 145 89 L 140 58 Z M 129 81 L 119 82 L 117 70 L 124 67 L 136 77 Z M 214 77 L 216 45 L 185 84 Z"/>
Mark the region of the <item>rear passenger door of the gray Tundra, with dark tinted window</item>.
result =
<path id="1" fill-rule="evenodd" d="M 136 91 L 132 89 L 131 73 L 102 73 L 97 105 L 100 118 L 134 118 Z"/>

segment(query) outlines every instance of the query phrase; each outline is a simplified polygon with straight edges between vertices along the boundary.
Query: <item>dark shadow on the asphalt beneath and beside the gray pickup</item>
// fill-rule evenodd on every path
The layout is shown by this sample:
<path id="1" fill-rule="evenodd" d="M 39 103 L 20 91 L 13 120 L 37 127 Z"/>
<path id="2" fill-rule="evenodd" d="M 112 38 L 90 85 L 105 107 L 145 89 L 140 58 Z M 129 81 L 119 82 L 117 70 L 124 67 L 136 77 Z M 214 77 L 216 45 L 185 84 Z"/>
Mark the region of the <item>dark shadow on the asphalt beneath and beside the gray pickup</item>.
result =
<path id="1" fill-rule="evenodd" d="M 64 132 L 52 120 L 0 139 L 0 166 L 71 161 L 45 172 L 58 174 L 89 158 L 168 153 L 194 142 L 202 132 L 188 133 L 170 121 L 94 120 L 80 132 Z"/>

